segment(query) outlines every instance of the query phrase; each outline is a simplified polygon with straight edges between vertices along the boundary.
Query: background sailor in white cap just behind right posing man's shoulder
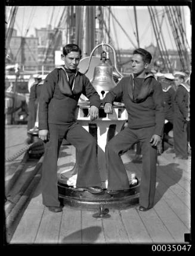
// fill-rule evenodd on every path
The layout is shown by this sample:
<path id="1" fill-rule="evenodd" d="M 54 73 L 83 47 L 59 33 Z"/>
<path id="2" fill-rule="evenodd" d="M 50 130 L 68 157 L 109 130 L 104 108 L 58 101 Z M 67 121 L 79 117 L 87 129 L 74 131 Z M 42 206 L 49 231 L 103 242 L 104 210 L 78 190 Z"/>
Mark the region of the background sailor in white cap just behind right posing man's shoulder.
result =
<path id="1" fill-rule="evenodd" d="M 158 81 L 162 84 L 163 101 L 165 111 L 165 126 L 162 138 L 162 152 L 164 151 L 164 142 L 169 140 L 169 132 L 173 129 L 174 124 L 174 98 L 175 90 L 172 87 L 174 75 L 171 73 L 163 74 Z"/>

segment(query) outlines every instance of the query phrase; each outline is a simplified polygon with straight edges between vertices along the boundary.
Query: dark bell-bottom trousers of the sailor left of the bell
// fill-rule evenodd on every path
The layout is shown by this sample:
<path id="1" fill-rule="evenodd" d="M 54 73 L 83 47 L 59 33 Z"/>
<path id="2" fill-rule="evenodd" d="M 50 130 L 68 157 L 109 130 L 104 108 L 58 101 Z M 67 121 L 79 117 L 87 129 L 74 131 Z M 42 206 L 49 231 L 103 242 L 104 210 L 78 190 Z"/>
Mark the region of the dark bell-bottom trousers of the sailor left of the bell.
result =
<path id="1" fill-rule="evenodd" d="M 42 163 L 42 199 L 46 206 L 59 206 L 57 160 L 65 138 L 76 148 L 78 161 L 77 187 L 101 187 L 95 138 L 80 124 L 49 124 L 49 141 L 45 145 Z"/>

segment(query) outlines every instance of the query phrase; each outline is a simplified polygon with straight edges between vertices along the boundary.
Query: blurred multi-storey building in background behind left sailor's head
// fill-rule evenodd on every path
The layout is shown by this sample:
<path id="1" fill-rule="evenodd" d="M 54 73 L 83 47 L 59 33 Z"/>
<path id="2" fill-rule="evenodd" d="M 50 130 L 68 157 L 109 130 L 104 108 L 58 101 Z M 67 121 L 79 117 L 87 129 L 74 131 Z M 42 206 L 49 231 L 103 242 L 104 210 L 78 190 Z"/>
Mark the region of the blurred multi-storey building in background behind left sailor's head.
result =
<path id="1" fill-rule="evenodd" d="M 57 28 L 36 29 L 36 36 L 17 36 L 16 29 L 10 39 L 7 64 L 20 66 L 20 71 L 51 71 L 55 63 L 55 50 L 62 45 L 61 31 Z"/>

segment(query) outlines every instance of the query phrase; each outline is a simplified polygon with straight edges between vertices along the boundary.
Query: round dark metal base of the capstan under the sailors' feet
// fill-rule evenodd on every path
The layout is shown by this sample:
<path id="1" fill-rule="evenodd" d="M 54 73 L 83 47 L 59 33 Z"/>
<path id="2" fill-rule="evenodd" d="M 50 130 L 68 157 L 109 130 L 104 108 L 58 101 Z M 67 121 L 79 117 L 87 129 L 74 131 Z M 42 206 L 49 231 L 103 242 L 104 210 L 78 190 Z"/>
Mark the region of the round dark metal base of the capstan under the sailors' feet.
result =
<path id="1" fill-rule="evenodd" d="M 101 194 L 92 194 L 81 188 L 73 188 L 58 181 L 59 200 L 63 205 L 85 210 L 97 210 L 100 206 L 109 209 L 125 209 L 137 205 L 140 196 L 140 183 L 129 190 L 121 190 L 118 194 L 108 194 L 103 190 Z"/>

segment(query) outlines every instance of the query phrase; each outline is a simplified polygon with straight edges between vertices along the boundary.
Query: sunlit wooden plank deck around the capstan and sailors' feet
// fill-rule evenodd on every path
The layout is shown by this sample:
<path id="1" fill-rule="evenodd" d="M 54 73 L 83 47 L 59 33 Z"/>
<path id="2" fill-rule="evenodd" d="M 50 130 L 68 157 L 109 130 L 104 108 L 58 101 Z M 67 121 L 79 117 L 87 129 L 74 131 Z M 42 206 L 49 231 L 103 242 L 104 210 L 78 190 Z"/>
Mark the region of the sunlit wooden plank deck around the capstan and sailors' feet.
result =
<path id="1" fill-rule="evenodd" d="M 92 217 L 94 211 L 64 206 L 52 213 L 42 205 L 38 184 L 10 244 L 153 244 L 184 243 L 190 233 L 190 162 L 175 160 L 166 151 L 158 157 L 154 208 L 138 211 L 138 205 L 109 212 L 110 218 Z M 128 172 L 140 176 L 142 164 L 133 163 L 131 151 L 122 156 Z M 61 147 L 58 173 L 75 163 L 75 148 Z"/>

